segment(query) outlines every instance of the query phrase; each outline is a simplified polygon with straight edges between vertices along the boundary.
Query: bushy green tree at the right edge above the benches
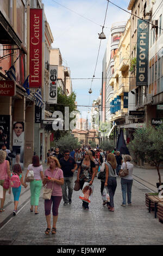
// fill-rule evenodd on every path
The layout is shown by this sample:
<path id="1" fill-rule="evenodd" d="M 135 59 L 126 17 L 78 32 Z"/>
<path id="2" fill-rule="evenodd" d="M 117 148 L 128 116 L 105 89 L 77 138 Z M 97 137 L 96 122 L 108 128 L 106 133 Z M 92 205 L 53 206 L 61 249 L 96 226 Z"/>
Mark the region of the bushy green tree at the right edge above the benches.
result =
<path id="1" fill-rule="evenodd" d="M 161 185 L 159 167 L 163 162 L 163 125 L 136 129 L 134 140 L 129 143 L 129 150 L 134 154 L 135 161 L 140 158 L 156 167 Z"/>

